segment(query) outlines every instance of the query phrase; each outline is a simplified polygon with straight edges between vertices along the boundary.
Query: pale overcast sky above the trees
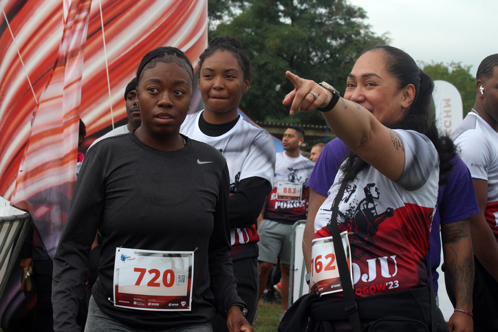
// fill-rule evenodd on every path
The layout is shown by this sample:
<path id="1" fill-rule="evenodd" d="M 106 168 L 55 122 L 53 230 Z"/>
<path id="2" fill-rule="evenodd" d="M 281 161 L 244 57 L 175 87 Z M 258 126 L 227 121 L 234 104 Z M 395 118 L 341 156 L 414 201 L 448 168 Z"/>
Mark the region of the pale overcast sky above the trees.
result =
<path id="1" fill-rule="evenodd" d="M 417 63 L 451 61 L 472 65 L 498 53 L 498 0 L 349 0 L 367 11 L 377 35 Z"/>

